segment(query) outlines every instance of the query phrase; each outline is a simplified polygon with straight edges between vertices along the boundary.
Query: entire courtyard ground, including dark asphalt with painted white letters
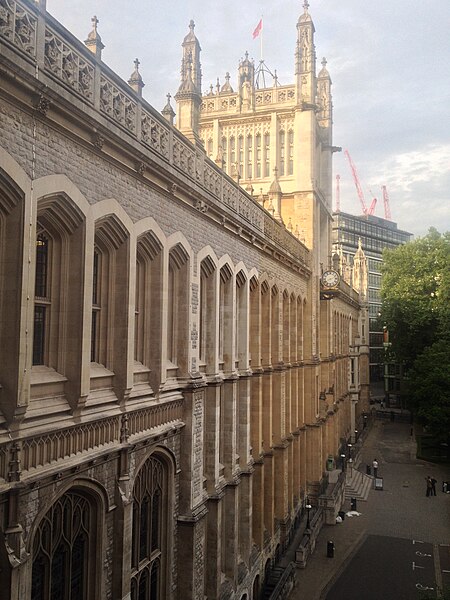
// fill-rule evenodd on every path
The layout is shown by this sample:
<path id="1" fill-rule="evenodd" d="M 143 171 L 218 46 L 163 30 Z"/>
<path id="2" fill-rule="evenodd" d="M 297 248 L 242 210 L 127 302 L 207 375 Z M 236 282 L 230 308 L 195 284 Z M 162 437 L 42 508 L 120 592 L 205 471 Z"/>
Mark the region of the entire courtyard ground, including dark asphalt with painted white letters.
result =
<path id="1" fill-rule="evenodd" d="M 383 490 L 358 502 L 359 517 L 322 529 L 290 600 L 419 600 L 450 585 L 450 494 L 442 493 L 450 468 L 416 460 L 410 433 L 406 423 L 375 422 L 360 468 L 377 458 Z M 438 481 L 435 497 L 425 495 L 427 475 Z"/>

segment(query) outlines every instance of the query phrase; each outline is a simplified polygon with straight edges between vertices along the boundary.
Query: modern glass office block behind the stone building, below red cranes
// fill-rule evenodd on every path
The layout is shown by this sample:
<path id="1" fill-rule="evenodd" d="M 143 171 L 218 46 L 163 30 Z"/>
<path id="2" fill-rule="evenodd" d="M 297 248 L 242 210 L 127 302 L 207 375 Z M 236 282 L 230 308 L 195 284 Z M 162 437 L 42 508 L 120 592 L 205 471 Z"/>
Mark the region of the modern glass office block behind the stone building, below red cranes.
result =
<path id="1" fill-rule="evenodd" d="M 333 214 L 333 248 L 342 250 L 351 265 L 358 249 L 358 241 L 368 260 L 369 328 L 370 328 L 370 380 L 385 380 L 386 392 L 398 390 L 398 368 L 384 360 L 383 331 L 378 314 L 381 308 L 381 265 L 383 250 L 405 244 L 412 234 L 398 229 L 397 223 L 374 215 L 355 216 L 343 212 Z"/>

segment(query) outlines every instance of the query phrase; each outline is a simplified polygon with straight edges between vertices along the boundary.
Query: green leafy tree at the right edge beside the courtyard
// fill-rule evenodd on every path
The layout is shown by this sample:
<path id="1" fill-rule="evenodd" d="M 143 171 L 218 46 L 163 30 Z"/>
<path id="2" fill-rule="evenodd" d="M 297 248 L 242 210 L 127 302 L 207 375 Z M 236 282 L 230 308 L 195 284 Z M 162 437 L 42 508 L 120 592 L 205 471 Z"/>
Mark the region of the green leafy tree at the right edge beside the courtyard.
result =
<path id="1" fill-rule="evenodd" d="M 409 398 L 435 433 L 450 431 L 450 232 L 436 229 L 383 254 L 381 319 Z"/>

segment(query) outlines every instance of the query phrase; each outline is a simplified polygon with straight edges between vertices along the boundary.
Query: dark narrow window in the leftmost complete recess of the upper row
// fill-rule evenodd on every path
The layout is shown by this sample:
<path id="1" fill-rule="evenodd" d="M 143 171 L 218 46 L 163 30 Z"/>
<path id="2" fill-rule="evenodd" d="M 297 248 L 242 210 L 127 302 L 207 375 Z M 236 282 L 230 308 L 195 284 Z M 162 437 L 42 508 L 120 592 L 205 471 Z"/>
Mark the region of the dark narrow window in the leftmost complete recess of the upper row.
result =
<path id="1" fill-rule="evenodd" d="M 45 364 L 46 332 L 50 293 L 48 281 L 49 238 L 39 234 L 36 238 L 36 279 L 34 303 L 33 365 Z"/>

